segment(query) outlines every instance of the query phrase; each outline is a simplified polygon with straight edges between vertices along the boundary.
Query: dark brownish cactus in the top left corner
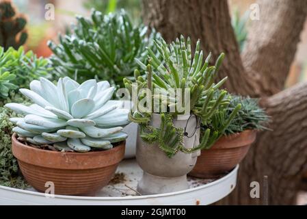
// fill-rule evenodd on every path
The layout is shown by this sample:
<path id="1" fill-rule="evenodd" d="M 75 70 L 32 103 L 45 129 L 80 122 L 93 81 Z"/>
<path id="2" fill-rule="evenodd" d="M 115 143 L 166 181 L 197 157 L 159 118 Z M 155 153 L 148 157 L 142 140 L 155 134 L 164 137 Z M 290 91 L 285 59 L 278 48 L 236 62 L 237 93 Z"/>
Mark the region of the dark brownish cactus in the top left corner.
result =
<path id="1" fill-rule="evenodd" d="M 27 19 L 23 14 L 18 14 L 11 1 L 0 2 L 0 46 L 5 51 L 13 47 L 18 49 L 27 40 L 25 25 Z"/>

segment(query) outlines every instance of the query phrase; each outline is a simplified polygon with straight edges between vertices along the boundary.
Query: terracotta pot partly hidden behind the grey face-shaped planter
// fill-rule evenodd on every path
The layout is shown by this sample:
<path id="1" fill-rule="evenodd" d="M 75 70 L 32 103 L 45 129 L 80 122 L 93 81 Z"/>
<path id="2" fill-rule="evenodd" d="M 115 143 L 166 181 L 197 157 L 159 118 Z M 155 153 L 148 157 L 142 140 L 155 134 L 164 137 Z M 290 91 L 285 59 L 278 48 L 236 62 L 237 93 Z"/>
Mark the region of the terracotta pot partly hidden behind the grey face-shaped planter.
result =
<path id="1" fill-rule="evenodd" d="M 224 175 L 241 162 L 255 139 L 256 131 L 254 130 L 220 138 L 211 149 L 202 150 L 189 175 L 204 179 Z"/>

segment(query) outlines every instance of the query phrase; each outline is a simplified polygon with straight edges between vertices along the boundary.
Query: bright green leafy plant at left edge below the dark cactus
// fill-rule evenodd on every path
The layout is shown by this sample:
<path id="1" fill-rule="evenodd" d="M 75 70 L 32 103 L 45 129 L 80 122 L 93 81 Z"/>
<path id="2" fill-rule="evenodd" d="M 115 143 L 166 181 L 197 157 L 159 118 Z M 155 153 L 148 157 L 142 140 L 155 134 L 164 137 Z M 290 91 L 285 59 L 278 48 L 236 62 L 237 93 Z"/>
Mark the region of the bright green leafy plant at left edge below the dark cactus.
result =
<path id="1" fill-rule="evenodd" d="M 10 90 L 27 88 L 29 82 L 39 77 L 51 77 L 48 60 L 36 57 L 32 51 L 25 53 L 10 47 L 0 47 L 0 97 L 8 98 Z"/>

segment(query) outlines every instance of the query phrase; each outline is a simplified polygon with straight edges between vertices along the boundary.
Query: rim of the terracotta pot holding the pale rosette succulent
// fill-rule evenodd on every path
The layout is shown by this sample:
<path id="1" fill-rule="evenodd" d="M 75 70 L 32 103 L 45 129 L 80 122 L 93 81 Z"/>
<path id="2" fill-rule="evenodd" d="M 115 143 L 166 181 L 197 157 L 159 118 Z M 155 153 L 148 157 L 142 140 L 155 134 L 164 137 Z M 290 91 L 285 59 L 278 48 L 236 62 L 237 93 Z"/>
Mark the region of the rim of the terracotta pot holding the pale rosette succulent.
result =
<path id="1" fill-rule="evenodd" d="M 124 157 L 126 141 L 107 151 L 90 151 L 86 153 L 49 151 L 27 146 L 12 135 L 12 152 L 16 159 L 45 168 L 84 170 L 103 168 L 118 164 Z"/>

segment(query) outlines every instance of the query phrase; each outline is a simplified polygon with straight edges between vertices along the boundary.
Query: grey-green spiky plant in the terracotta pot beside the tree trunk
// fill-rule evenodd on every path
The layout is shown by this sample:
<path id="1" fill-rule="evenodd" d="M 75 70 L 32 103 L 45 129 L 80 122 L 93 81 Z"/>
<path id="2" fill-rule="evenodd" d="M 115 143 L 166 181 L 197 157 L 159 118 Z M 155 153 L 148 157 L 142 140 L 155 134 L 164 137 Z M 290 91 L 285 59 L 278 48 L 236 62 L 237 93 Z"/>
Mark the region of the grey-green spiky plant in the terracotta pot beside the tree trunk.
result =
<path id="1" fill-rule="evenodd" d="M 216 112 L 208 123 L 203 124 L 202 128 L 204 130 L 209 128 L 219 131 L 221 127 L 227 123 L 226 120 L 239 104 L 241 105 L 241 109 L 237 112 L 226 129 L 219 131 L 219 136 L 240 133 L 248 129 L 267 129 L 265 125 L 269 123 L 269 116 L 267 116 L 265 110 L 258 105 L 258 99 L 231 94 L 228 94 L 226 98 L 230 100 L 230 104 Z"/>

